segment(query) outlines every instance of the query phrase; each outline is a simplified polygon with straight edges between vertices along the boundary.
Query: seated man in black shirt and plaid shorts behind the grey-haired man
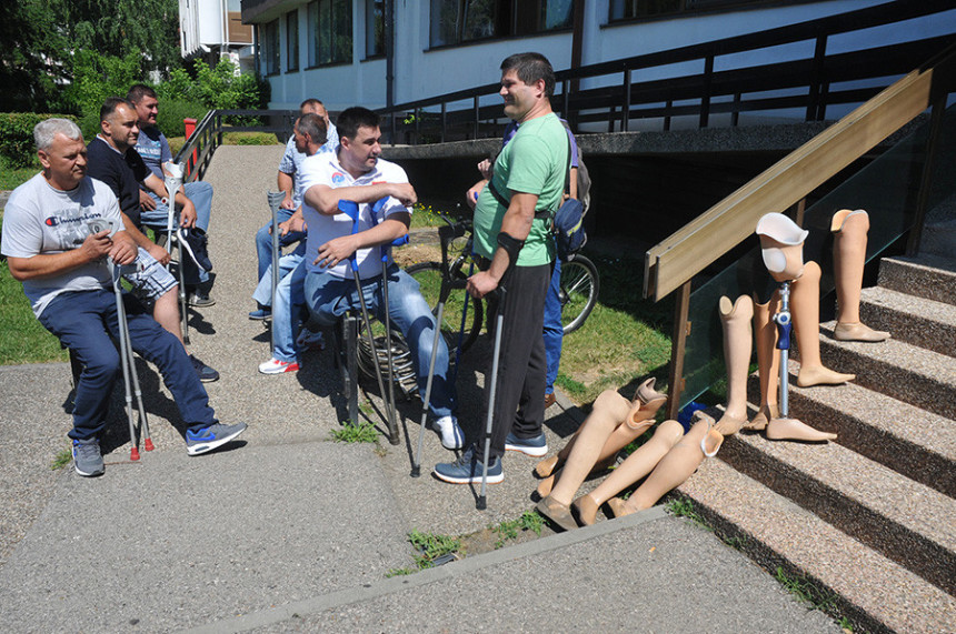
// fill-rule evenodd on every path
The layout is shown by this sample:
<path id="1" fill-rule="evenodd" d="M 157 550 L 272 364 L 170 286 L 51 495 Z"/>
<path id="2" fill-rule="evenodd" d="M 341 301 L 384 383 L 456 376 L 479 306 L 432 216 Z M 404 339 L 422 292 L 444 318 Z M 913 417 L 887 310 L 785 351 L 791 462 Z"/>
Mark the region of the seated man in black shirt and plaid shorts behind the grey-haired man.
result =
<path id="1" fill-rule="evenodd" d="M 157 195 L 167 197 L 162 179 L 153 174 L 133 145 L 139 137 L 136 109 L 120 97 L 111 97 L 100 108 L 100 133 L 87 147 L 88 171 L 93 179 L 104 182 L 119 199 L 123 225 L 139 248 L 141 266 L 129 276 L 147 298 L 155 302 L 152 314 L 166 330 L 182 341 L 179 325 L 179 302 L 176 279 L 160 264 L 169 263 L 166 249 L 153 243 L 140 231 L 139 185 L 143 183 Z M 180 191 L 176 202 L 182 205 L 180 222 L 185 227 L 196 223 L 196 210 Z M 183 343 L 183 346 L 186 344 Z M 190 360 L 200 380 L 216 381 L 219 373 L 195 355 Z"/>

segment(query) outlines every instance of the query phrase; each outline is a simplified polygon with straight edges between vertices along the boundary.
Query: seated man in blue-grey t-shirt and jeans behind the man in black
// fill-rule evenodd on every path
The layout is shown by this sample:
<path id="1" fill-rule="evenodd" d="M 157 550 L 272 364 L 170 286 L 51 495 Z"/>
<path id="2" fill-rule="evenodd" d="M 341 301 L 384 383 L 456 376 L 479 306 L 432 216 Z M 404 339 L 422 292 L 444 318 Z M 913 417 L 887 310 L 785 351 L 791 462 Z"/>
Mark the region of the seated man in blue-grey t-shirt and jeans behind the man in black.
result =
<path id="1" fill-rule="evenodd" d="M 136 151 L 149 170 L 162 180 L 167 175 L 162 164 L 172 160 L 172 152 L 169 150 L 169 141 L 167 141 L 166 135 L 156 127 L 156 118 L 159 113 L 159 100 L 156 97 L 156 91 L 145 83 L 137 83 L 129 89 L 126 98 L 136 109 L 139 127 Z M 216 302 L 209 298 L 207 288 L 209 271 L 206 265 L 208 264 L 211 269 L 207 252 L 207 235 L 209 233 L 209 218 L 212 213 L 212 185 L 205 181 L 191 181 L 182 183 L 180 191 L 196 213 L 196 222 L 192 224 L 173 222 L 173 229 L 181 228 L 182 230 L 182 238 L 189 248 L 189 255 L 196 258 L 196 262 L 190 258 L 186 259 L 183 263 L 189 304 L 200 308 L 211 306 Z M 142 224 L 152 228 L 167 225 L 169 207 L 165 198 L 158 197 L 146 185 L 140 185 L 139 203 Z"/>

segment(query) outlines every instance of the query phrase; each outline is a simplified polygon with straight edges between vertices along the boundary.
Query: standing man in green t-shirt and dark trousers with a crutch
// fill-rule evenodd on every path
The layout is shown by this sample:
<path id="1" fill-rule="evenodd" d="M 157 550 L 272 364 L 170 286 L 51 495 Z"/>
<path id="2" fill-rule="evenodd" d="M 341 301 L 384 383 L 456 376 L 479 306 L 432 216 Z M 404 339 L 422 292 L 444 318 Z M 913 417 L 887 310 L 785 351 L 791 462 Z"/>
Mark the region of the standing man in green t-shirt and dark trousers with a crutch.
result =
<path id="1" fill-rule="evenodd" d="M 506 450 L 541 456 L 548 451 L 545 422 L 545 344 L 541 339 L 545 295 L 555 259 L 550 218 L 561 202 L 568 170 L 568 138 L 551 111 L 555 72 L 539 53 L 518 53 L 501 62 L 505 114 L 520 123 L 495 163 L 495 173 L 475 205 L 475 250 L 481 271 L 468 280 L 468 292 L 484 298 L 507 289 L 501 306 L 491 302 L 489 320 L 502 312 L 501 352 L 492 407 L 488 482 L 501 482 Z M 485 374 L 490 381 L 489 371 Z M 486 384 L 485 389 L 490 390 Z M 482 402 L 481 421 L 487 416 Z M 484 426 L 484 425 L 482 425 Z M 476 445 L 458 461 L 435 466 L 446 482 L 479 482 L 484 455 Z"/>

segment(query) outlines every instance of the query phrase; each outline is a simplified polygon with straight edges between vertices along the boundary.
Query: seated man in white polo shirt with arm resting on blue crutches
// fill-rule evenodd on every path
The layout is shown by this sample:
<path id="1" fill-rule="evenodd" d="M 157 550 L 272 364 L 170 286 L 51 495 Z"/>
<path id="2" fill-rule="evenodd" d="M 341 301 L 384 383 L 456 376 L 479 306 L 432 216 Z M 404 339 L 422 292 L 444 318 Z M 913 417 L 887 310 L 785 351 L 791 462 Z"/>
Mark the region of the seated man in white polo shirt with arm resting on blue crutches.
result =
<path id="1" fill-rule="evenodd" d="M 308 225 L 306 303 L 320 324 L 335 324 L 347 311 L 360 306 L 357 274 L 369 310 L 381 321 L 388 310 L 391 323 L 408 342 L 424 396 L 437 328 L 435 316 L 418 290 L 418 282 L 394 261 L 388 262 L 386 280 L 381 279 L 379 256 L 382 245 L 408 233 L 409 208 L 418 198 L 405 170 L 379 159 L 378 114 L 366 108 L 349 108 L 339 115 L 337 124 L 338 151 L 309 157 L 301 165 L 302 214 Z M 339 211 L 341 200 L 358 203 L 356 233 L 352 219 Z M 349 265 L 352 258 L 357 273 Z M 388 306 L 384 305 L 382 282 L 388 284 Z M 448 346 L 441 336 L 430 396 L 432 425 L 441 435 L 442 446 L 459 449 L 465 437 L 454 415 L 455 385 L 448 378 Z"/>

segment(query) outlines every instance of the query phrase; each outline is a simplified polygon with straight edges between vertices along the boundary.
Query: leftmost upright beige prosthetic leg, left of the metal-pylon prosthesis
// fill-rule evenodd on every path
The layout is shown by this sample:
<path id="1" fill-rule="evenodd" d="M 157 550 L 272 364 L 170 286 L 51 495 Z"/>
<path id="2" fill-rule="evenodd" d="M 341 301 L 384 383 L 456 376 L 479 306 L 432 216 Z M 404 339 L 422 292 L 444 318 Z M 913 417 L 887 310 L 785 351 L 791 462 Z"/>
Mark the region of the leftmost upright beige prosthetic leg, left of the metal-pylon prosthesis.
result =
<path id="1" fill-rule="evenodd" d="M 714 427 L 721 436 L 740 431 L 747 423 L 747 374 L 750 369 L 754 300 L 740 295 L 737 301 L 723 296 L 718 304 L 724 325 L 724 362 L 727 365 L 727 409 Z"/>

